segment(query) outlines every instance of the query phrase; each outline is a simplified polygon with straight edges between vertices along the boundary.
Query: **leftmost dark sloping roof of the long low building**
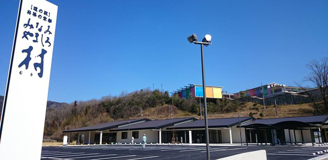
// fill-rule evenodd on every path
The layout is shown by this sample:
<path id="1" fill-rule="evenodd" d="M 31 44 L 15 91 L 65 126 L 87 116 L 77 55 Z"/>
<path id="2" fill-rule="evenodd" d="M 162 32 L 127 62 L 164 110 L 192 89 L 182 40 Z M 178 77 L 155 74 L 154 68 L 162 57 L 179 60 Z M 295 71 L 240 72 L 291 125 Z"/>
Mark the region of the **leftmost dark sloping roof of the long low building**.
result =
<path id="1" fill-rule="evenodd" d="M 70 129 L 70 130 L 64 130 L 65 132 L 81 132 L 81 131 L 94 131 L 94 130 L 106 130 L 111 128 L 116 128 L 121 125 L 126 125 L 130 123 L 140 122 L 140 121 L 150 121 L 149 119 L 135 119 L 135 120 L 124 120 L 124 121 L 114 121 L 114 122 L 107 122 L 107 123 L 101 123 L 93 126 L 88 127 L 82 127 L 82 128 L 76 128 L 76 129 Z"/>

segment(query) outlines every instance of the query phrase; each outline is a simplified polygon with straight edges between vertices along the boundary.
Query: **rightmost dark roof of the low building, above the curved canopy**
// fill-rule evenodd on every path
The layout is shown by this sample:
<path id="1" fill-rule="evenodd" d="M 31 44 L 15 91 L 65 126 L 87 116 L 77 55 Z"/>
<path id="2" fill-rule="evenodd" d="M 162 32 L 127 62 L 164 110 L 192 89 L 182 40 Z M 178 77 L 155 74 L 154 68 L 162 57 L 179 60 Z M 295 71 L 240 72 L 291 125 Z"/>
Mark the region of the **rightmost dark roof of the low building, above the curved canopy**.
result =
<path id="1" fill-rule="evenodd" d="M 288 118 L 273 118 L 273 119 L 260 119 L 241 125 L 242 127 L 251 126 L 273 126 L 278 123 L 285 122 L 300 122 L 308 124 L 325 124 L 328 121 L 328 115 L 324 116 L 306 116 L 306 117 L 288 117 Z"/>

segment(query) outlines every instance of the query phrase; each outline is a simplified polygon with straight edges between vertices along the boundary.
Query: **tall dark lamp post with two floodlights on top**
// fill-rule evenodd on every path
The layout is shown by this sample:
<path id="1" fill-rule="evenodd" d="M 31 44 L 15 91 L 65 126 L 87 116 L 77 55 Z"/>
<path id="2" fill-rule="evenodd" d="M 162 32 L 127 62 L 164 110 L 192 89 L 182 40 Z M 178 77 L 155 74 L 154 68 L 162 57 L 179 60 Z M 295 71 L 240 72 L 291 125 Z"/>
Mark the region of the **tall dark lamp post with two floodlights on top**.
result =
<path id="1" fill-rule="evenodd" d="M 205 70 L 204 70 L 204 54 L 203 54 L 203 45 L 206 47 L 211 43 L 211 35 L 207 34 L 202 39 L 202 42 L 197 41 L 197 35 L 192 34 L 191 36 L 187 37 L 190 43 L 200 44 L 200 52 L 201 52 L 201 73 L 202 73 L 202 81 L 203 81 L 203 97 L 204 97 L 204 118 L 205 118 L 205 136 L 206 136 L 206 152 L 207 152 L 207 159 L 210 160 L 210 143 L 209 143 L 209 126 L 208 126 L 208 119 L 207 119 L 207 105 L 206 105 L 206 84 L 205 84 Z"/>

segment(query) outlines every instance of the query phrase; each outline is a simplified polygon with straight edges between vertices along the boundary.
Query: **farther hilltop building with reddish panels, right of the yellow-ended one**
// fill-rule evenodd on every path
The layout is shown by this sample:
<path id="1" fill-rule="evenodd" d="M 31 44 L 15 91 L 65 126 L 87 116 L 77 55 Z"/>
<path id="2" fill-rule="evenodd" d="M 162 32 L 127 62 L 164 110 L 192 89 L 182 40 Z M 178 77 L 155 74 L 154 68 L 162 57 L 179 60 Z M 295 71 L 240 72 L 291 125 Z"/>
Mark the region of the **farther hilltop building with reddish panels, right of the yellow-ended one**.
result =
<path id="1" fill-rule="evenodd" d="M 263 94 L 262 94 L 262 90 L 263 90 Z M 264 98 L 268 98 L 283 93 L 298 93 L 302 91 L 304 91 L 304 89 L 300 87 L 286 86 L 284 84 L 278 84 L 278 83 L 270 83 L 252 89 L 244 90 L 242 92 L 235 93 L 234 98 L 235 99 L 240 98 L 240 93 L 244 93 L 245 97 L 248 96 L 263 97 L 264 95 Z"/>

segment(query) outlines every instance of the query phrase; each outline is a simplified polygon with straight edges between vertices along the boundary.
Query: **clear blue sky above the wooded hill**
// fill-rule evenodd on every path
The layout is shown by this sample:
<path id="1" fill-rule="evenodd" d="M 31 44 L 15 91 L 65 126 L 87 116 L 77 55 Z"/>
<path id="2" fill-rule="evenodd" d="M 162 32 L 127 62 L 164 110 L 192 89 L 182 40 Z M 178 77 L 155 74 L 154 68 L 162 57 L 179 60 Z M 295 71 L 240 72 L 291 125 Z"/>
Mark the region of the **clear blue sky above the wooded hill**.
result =
<path id="1" fill-rule="evenodd" d="M 73 102 L 146 87 L 172 92 L 206 83 L 236 93 L 295 85 L 305 64 L 328 56 L 328 1 L 54 1 L 58 6 L 48 100 Z M 18 0 L 0 1 L 0 95 L 4 95 Z M 311 83 L 304 83 L 311 85 Z"/>

